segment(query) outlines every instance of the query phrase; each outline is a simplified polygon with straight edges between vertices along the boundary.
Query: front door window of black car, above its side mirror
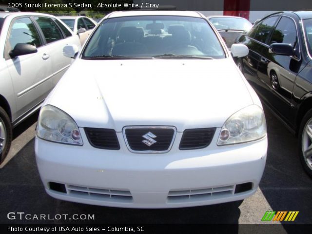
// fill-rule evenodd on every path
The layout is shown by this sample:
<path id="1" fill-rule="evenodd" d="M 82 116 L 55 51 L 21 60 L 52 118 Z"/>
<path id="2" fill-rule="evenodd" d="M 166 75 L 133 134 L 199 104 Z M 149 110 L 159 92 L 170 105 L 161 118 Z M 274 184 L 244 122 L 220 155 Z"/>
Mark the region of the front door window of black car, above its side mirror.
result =
<path id="1" fill-rule="evenodd" d="M 271 43 L 287 43 L 292 44 L 292 47 L 297 42 L 297 31 L 293 20 L 282 17 L 277 23 L 276 28 L 273 31 Z"/>

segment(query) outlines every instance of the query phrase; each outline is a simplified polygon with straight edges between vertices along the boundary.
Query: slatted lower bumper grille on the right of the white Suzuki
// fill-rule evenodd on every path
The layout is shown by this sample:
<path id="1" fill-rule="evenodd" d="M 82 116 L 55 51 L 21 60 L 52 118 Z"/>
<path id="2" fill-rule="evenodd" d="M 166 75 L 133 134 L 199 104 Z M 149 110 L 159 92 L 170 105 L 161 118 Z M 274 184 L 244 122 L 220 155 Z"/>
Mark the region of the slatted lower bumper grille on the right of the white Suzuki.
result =
<path id="1" fill-rule="evenodd" d="M 210 200 L 233 195 L 234 187 L 234 185 L 230 185 L 216 188 L 172 190 L 169 191 L 167 199 L 169 203 Z"/>

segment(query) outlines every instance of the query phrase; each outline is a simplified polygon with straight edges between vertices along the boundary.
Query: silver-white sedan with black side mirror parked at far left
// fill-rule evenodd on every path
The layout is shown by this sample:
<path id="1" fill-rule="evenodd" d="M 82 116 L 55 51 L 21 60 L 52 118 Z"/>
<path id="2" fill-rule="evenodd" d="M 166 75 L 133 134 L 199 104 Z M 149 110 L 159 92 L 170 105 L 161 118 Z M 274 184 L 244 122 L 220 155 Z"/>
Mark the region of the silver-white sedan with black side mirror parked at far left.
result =
<path id="1" fill-rule="evenodd" d="M 79 38 L 54 16 L 0 13 L 0 163 L 12 128 L 40 108 L 70 66 L 62 50 L 68 44 L 79 48 Z"/>

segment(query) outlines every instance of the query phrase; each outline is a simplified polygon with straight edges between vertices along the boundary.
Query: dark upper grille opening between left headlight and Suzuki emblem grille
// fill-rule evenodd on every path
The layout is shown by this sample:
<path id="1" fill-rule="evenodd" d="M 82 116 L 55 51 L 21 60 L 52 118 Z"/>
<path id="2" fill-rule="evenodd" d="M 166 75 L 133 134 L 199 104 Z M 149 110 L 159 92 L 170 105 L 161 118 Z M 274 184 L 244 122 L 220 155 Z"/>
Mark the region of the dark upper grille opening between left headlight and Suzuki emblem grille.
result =
<path id="1" fill-rule="evenodd" d="M 119 142 L 115 130 L 106 128 L 84 128 L 89 143 L 106 150 L 119 150 Z"/>

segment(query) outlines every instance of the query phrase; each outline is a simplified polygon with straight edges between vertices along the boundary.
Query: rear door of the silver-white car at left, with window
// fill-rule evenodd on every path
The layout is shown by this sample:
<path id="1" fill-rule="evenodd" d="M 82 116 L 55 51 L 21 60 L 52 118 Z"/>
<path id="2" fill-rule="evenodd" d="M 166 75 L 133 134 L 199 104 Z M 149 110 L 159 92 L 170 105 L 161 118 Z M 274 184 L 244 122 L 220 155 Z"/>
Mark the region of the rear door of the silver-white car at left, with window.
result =
<path id="1" fill-rule="evenodd" d="M 64 35 L 54 18 L 35 16 L 34 20 L 38 23 L 44 35 L 47 53 L 52 61 L 52 85 L 55 86 L 71 64 L 72 59 L 63 55 L 63 48 L 68 44 L 72 44 L 73 37 Z"/>

